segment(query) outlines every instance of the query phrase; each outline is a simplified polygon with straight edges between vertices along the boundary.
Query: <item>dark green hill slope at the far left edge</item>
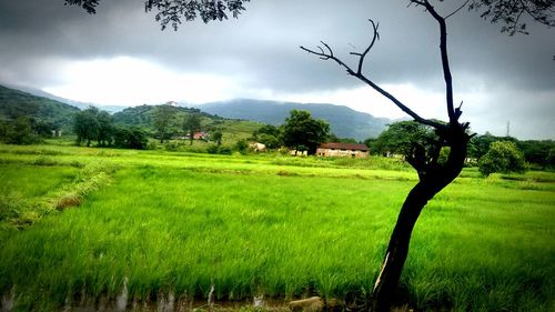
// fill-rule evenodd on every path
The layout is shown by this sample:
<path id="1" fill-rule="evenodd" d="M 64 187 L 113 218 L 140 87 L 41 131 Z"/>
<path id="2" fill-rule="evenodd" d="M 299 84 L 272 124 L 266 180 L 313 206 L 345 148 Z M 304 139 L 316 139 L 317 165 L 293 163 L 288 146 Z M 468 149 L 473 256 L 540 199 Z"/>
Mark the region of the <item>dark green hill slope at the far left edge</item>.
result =
<path id="1" fill-rule="evenodd" d="M 79 109 L 51 99 L 0 85 L 0 119 L 13 120 L 27 115 L 70 130 Z"/>

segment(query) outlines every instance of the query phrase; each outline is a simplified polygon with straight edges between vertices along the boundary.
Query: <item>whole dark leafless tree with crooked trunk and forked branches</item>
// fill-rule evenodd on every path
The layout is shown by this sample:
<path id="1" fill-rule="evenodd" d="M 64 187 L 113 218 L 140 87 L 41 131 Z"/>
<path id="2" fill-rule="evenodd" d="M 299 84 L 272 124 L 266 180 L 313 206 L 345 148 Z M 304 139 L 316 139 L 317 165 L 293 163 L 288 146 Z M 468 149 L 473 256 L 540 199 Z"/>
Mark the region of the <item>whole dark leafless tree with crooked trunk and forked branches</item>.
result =
<path id="1" fill-rule="evenodd" d="M 453 79 L 451 76 L 447 53 L 447 28 L 445 21 L 446 18 L 457 12 L 463 7 L 460 7 L 455 12 L 443 17 L 435 10 L 428 0 L 410 0 L 410 2 L 411 4 L 424 8 L 424 10 L 437 21 L 440 28 L 440 51 L 443 76 L 445 79 L 445 108 L 447 111 L 448 122 L 443 123 L 422 118 L 393 94 L 377 85 L 372 78 L 363 72 L 364 62 L 369 52 L 380 39 L 380 33 L 377 31 L 379 24 L 374 21 L 370 20 L 372 26 L 372 39 L 370 44 L 362 52 L 351 52 L 352 56 L 357 58 L 355 67 L 347 64 L 336 57 L 333 53 L 332 48 L 323 41 L 322 46 L 317 47 L 316 50 L 301 47 L 304 51 L 317 56 L 323 60 L 332 60 L 336 62 L 346 70 L 347 74 L 357 78 L 367 85 L 372 87 L 375 91 L 391 100 L 416 122 L 435 129 L 436 139 L 433 140 L 433 142 L 426 145 L 415 142 L 411 145 L 410 152 L 406 155 L 408 163 L 418 173 L 418 182 L 406 197 L 398 213 L 395 228 L 391 234 L 390 243 L 380 270 L 380 275 L 375 281 L 372 293 L 372 311 L 390 310 L 398 280 L 401 278 L 401 272 L 408 254 L 411 234 L 418 215 L 426 203 L 458 175 L 463 169 L 464 160 L 466 158 L 466 147 L 468 140 L 472 137 L 467 134 L 470 123 L 462 123 L 458 121 L 462 114 L 462 103 L 458 108 L 455 108 L 453 102 Z M 448 147 L 450 153 L 447 161 L 440 163 L 440 151 L 443 147 Z"/>

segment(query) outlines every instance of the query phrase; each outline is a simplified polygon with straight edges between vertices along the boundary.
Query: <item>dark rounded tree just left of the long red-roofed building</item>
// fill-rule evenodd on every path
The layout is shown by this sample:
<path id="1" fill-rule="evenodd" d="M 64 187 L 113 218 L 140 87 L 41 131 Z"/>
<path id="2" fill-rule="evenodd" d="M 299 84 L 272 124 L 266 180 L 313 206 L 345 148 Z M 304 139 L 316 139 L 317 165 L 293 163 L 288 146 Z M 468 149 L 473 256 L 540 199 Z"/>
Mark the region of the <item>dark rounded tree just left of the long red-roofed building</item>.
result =
<path id="1" fill-rule="evenodd" d="M 313 119 L 309 111 L 292 110 L 282 125 L 283 144 L 300 151 L 305 148 L 309 154 L 316 152 L 317 145 L 325 142 L 330 124 L 321 119 Z"/>

